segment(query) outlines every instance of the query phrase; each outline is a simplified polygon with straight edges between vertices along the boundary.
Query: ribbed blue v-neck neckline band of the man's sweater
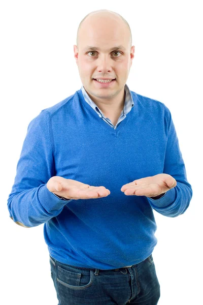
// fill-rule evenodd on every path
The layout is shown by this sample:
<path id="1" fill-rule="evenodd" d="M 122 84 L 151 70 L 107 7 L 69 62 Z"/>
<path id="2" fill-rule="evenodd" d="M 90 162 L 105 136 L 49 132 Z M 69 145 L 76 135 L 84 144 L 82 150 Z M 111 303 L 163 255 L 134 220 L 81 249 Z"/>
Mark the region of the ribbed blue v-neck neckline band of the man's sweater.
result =
<path id="1" fill-rule="evenodd" d="M 81 90 L 78 90 L 77 93 L 79 95 L 79 98 L 81 98 L 82 103 L 85 106 L 85 108 L 87 110 L 90 110 L 90 112 L 98 119 L 101 126 L 103 126 L 103 128 L 109 129 L 109 131 L 111 130 L 113 132 L 113 134 L 115 134 L 117 136 L 118 132 L 120 132 L 120 130 L 126 125 L 132 108 L 126 114 L 126 117 L 119 123 L 118 127 L 115 129 L 115 128 L 111 127 L 108 123 L 106 123 L 106 121 L 102 117 L 99 117 L 99 115 L 94 111 L 94 109 L 85 101 Z"/>

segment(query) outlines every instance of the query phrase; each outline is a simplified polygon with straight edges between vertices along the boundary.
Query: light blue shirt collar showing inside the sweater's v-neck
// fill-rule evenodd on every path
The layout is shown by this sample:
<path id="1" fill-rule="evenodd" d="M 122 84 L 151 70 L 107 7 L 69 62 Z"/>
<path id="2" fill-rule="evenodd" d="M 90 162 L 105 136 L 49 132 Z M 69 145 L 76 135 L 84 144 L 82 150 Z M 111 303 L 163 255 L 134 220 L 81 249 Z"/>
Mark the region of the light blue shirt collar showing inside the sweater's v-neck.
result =
<path id="1" fill-rule="evenodd" d="M 130 112 L 130 110 L 134 106 L 134 102 L 133 102 L 130 90 L 129 90 L 127 84 L 125 84 L 125 87 L 124 87 L 124 91 L 125 91 L 125 103 L 124 103 L 124 107 L 123 107 L 123 110 L 121 112 L 121 115 L 119 116 L 119 119 L 117 121 L 116 126 L 114 126 L 112 124 L 111 120 L 108 117 L 106 117 L 104 115 L 104 113 L 98 108 L 98 106 L 90 99 L 90 97 L 87 94 L 84 86 L 81 87 L 81 90 L 82 90 L 82 94 L 83 94 L 83 97 L 84 97 L 85 101 L 92 107 L 92 109 L 94 109 L 94 111 L 98 114 L 98 116 L 100 118 L 102 118 L 104 121 L 106 121 L 106 123 L 109 124 L 114 129 L 116 129 L 118 127 L 120 122 L 126 117 L 126 114 L 128 112 Z"/>

